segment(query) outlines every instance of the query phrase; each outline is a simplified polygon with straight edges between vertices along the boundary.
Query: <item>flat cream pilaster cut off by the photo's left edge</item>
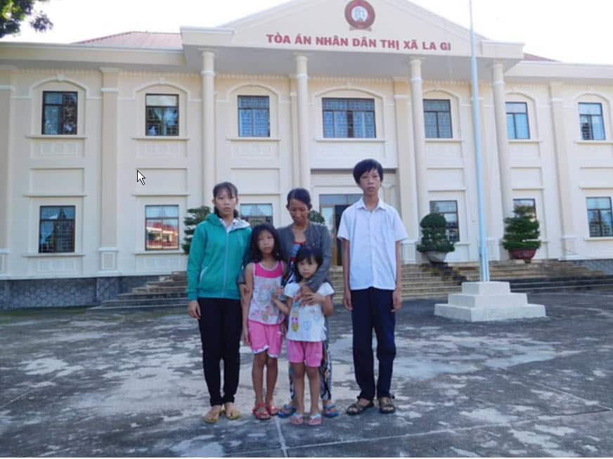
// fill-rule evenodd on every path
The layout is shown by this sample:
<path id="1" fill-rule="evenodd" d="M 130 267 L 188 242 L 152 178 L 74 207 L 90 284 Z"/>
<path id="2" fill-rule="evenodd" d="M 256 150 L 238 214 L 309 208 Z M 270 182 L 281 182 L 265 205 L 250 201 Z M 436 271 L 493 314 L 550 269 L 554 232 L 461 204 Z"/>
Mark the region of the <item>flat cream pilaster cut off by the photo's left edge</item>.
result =
<path id="1" fill-rule="evenodd" d="M 8 276 L 11 253 L 11 126 L 13 120 L 13 71 L 0 66 L 0 278 Z"/>

